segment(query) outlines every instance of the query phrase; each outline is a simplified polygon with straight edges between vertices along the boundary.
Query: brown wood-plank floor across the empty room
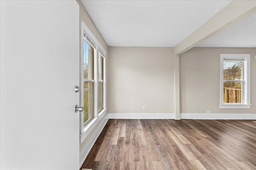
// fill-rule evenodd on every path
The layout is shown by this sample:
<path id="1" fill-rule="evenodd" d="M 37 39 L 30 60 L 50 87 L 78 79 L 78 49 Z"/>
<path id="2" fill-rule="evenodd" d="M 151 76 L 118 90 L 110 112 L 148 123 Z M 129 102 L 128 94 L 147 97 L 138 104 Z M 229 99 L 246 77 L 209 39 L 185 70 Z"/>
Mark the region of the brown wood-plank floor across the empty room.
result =
<path id="1" fill-rule="evenodd" d="M 82 168 L 255 170 L 256 122 L 109 119 Z"/>

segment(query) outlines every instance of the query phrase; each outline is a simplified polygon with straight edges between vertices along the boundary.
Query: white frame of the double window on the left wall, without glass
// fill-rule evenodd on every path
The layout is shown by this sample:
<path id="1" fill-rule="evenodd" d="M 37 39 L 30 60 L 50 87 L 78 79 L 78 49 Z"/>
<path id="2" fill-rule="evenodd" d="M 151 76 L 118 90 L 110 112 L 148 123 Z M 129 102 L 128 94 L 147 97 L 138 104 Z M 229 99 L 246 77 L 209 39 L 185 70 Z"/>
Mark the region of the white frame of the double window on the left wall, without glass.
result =
<path id="1" fill-rule="evenodd" d="M 80 106 L 83 106 L 84 103 L 82 102 L 82 95 L 83 94 L 83 84 L 84 81 L 82 81 L 83 72 L 82 69 L 84 68 L 84 33 L 90 37 L 90 40 L 93 41 L 95 45 L 95 51 L 94 51 L 94 118 L 88 122 L 86 125 L 84 125 L 84 112 L 80 112 L 80 143 L 86 139 L 86 137 L 90 134 L 90 132 L 96 127 L 96 125 L 99 123 L 99 121 L 102 119 L 102 117 L 106 114 L 106 66 L 105 66 L 105 57 L 106 57 L 106 50 L 100 45 L 100 42 L 94 37 L 90 29 L 85 25 L 84 21 L 80 20 Z M 90 42 L 89 42 L 90 44 Z M 99 51 L 104 54 L 104 67 L 103 67 L 103 109 L 98 112 L 98 58 L 99 58 Z M 82 78 L 81 78 L 82 76 Z"/>

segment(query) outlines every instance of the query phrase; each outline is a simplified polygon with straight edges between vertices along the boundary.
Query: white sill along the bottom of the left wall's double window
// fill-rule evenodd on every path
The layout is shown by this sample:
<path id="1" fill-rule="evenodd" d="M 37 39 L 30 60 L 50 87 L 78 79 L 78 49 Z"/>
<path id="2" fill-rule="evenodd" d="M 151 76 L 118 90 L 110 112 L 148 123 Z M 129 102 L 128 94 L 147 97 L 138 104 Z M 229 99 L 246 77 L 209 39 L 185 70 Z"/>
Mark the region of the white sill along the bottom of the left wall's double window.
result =
<path id="1" fill-rule="evenodd" d="M 86 139 L 86 137 L 91 133 L 91 131 L 99 123 L 99 121 L 102 119 L 102 117 L 105 114 L 106 114 L 106 109 L 103 109 L 102 111 L 100 111 L 100 114 L 99 114 L 99 116 L 97 118 L 94 117 L 94 119 L 92 119 L 92 121 L 90 121 L 90 123 L 88 123 L 84 127 L 84 133 L 82 133 L 80 135 L 80 143 L 82 143 L 84 141 L 84 139 Z"/>

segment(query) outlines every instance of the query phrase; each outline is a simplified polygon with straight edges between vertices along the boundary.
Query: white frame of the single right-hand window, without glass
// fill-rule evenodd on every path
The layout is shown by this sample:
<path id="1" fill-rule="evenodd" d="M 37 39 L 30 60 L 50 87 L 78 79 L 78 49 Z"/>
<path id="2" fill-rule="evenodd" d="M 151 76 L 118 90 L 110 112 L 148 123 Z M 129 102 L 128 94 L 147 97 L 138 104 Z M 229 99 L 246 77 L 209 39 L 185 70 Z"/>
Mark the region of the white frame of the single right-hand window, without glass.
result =
<path id="1" fill-rule="evenodd" d="M 223 67 L 224 59 L 242 59 L 244 60 L 242 82 L 242 103 L 224 103 L 223 102 Z M 250 54 L 220 54 L 220 109 L 250 109 Z"/>

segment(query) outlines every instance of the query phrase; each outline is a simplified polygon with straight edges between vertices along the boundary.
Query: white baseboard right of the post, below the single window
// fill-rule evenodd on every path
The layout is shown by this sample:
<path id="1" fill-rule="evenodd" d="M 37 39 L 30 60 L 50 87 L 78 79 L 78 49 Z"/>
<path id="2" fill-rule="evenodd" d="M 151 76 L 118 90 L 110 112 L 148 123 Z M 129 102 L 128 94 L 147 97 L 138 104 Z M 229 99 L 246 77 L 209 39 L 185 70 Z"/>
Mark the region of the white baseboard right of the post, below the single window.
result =
<path id="1" fill-rule="evenodd" d="M 256 119 L 254 113 L 180 113 L 180 119 Z"/>

